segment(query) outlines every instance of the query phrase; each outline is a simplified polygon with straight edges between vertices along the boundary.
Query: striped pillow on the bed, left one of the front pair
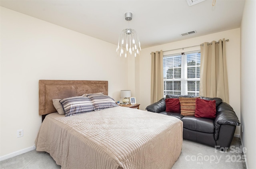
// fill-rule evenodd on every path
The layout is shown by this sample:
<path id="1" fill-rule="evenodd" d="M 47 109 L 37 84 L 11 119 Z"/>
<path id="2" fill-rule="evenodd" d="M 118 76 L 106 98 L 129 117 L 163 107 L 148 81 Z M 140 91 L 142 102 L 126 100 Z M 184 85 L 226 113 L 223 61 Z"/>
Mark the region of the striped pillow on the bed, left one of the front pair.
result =
<path id="1" fill-rule="evenodd" d="M 92 112 L 93 107 L 90 99 L 84 96 L 75 96 L 60 100 L 66 116 Z"/>

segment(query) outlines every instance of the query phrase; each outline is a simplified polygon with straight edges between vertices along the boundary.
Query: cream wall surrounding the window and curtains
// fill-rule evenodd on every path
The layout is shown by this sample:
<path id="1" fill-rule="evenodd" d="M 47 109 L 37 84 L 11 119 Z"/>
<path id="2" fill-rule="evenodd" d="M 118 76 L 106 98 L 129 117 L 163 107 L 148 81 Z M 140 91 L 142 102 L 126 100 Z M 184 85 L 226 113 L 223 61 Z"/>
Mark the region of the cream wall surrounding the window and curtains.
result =
<path id="1" fill-rule="evenodd" d="M 142 54 L 139 58 L 140 64 L 136 66 L 136 69 L 140 72 L 140 77 L 138 78 L 140 81 L 136 81 L 136 83 L 139 83 L 138 88 L 140 88 L 139 91 L 136 90 L 140 95 L 140 100 L 138 100 L 141 104 L 140 109 L 145 109 L 146 106 L 150 104 L 151 52 L 200 45 L 204 42 L 218 41 L 223 38 L 229 39 L 229 41 L 226 42 L 229 103 L 240 119 L 240 28 L 142 49 Z M 181 53 L 195 50 L 200 50 L 200 46 L 170 51 L 168 53 Z M 235 134 L 240 134 L 240 126 L 236 128 Z"/>

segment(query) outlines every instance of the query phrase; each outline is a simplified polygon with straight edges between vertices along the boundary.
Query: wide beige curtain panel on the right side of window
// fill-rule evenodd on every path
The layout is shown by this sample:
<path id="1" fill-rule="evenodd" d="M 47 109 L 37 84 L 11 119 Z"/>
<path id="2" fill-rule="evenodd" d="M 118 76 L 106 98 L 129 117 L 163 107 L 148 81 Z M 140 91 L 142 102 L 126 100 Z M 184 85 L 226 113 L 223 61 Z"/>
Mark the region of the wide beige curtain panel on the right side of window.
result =
<path id="1" fill-rule="evenodd" d="M 201 44 L 200 96 L 229 102 L 225 39 Z"/>

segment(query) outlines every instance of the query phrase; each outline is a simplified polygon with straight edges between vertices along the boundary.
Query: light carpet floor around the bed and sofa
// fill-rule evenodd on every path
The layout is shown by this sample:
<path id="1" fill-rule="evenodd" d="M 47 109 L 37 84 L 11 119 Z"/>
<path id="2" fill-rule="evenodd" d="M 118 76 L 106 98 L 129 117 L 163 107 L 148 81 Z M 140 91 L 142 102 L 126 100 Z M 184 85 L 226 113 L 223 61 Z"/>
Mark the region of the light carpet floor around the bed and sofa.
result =
<path id="1" fill-rule="evenodd" d="M 246 169 L 242 151 L 241 141 L 235 137 L 230 149 L 225 152 L 183 140 L 182 152 L 172 169 Z M 36 150 L 0 161 L 0 169 L 60 168 L 48 153 Z"/>

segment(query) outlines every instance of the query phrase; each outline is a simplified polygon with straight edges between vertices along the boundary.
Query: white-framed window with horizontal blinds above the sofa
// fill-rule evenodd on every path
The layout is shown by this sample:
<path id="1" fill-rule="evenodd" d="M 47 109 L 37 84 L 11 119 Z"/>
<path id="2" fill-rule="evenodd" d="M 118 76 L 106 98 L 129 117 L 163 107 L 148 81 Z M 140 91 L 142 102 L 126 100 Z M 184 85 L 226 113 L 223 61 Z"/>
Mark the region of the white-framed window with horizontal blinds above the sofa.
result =
<path id="1" fill-rule="evenodd" d="M 164 56 L 164 96 L 166 94 L 199 96 L 200 59 L 200 51 Z"/>

